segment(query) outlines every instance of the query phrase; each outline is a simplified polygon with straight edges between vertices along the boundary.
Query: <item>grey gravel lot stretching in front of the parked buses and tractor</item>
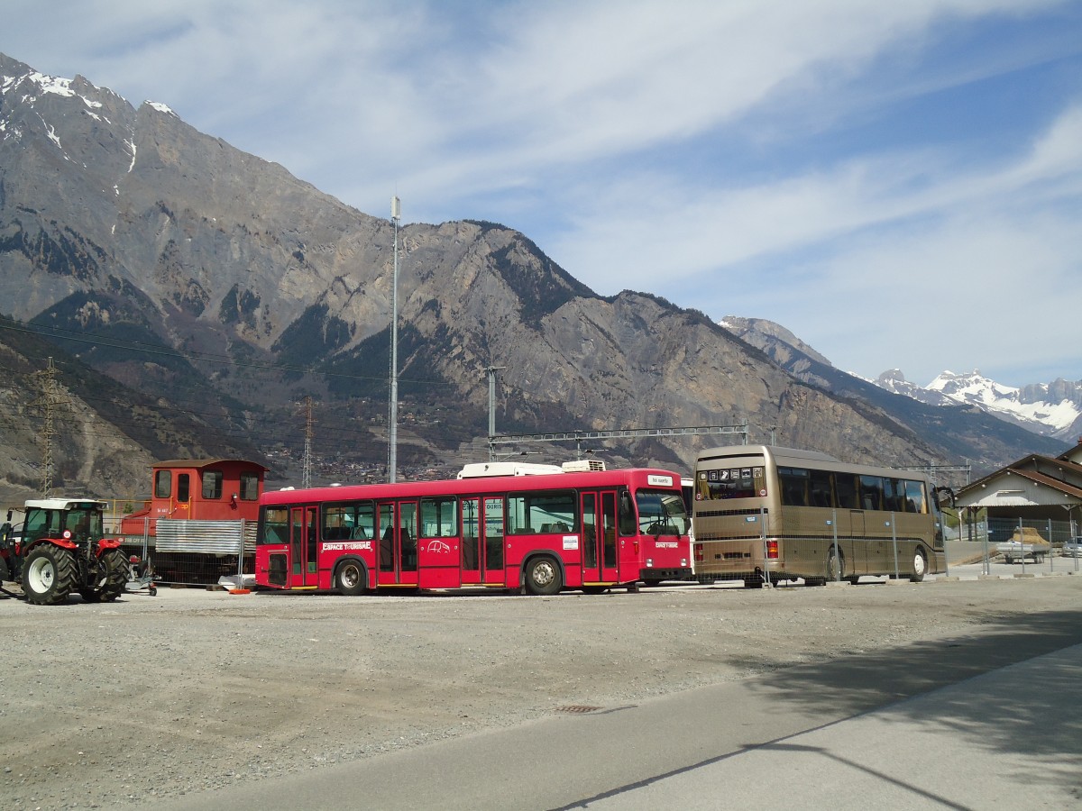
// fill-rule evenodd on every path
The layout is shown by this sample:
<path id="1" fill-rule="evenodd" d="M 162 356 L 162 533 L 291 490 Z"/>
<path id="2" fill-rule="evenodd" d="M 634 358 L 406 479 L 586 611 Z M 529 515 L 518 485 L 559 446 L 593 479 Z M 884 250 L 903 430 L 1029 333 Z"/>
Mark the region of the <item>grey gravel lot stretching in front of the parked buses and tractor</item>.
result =
<path id="1" fill-rule="evenodd" d="M 954 573 L 954 572 L 952 572 Z M 0 595 L 5 809 L 144 805 L 1079 611 L 1082 577 L 551 598 Z"/>

